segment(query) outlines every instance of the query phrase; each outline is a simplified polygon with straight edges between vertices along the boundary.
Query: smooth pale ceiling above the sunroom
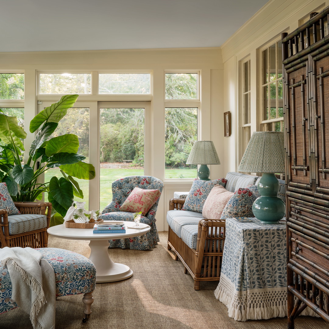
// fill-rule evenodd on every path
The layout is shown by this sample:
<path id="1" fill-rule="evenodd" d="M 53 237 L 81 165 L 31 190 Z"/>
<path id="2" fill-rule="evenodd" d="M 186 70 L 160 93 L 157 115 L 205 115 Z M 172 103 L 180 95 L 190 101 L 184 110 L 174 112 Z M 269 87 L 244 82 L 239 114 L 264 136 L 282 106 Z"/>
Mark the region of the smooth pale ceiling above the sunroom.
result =
<path id="1" fill-rule="evenodd" d="M 218 47 L 268 0 L 0 0 L 0 52 Z"/>

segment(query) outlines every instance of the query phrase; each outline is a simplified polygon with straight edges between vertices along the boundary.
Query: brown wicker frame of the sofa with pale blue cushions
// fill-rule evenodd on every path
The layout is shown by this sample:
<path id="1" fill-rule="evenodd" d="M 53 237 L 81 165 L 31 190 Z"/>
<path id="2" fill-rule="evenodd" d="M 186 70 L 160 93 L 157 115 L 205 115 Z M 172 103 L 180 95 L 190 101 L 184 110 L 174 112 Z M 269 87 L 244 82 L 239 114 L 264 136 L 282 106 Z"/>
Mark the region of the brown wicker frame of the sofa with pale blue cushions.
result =
<path id="1" fill-rule="evenodd" d="M 181 210 L 185 199 L 170 199 L 169 210 Z M 169 226 L 168 249 L 180 259 L 185 273 L 194 280 L 194 289 L 200 289 L 200 281 L 218 281 L 220 278 L 225 241 L 225 220 L 205 220 L 198 222 L 196 249 L 190 248 Z"/>

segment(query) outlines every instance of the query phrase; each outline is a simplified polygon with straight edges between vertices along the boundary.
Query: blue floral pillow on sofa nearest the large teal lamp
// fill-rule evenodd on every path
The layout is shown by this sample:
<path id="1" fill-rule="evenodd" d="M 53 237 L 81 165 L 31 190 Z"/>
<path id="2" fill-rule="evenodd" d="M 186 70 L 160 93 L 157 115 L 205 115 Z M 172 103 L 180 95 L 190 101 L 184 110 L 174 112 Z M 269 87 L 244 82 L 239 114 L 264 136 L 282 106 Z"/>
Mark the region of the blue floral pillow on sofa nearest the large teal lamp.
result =
<path id="1" fill-rule="evenodd" d="M 239 188 L 224 207 L 220 219 L 254 217 L 252 204 L 258 197 L 260 197 L 260 194 L 256 185 L 249 185 L 247 188 Z"/>

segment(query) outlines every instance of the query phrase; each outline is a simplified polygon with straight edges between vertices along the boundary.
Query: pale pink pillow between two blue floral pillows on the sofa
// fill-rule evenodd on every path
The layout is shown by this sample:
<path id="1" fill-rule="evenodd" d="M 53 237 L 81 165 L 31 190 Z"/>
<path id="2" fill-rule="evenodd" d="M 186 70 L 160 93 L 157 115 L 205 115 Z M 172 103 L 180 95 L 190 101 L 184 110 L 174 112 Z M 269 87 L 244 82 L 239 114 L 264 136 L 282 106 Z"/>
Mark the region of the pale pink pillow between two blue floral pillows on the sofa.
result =
<path id="1" fill-rule="evenodd" d="M 224 186 L 216 185 L 209 192 L 209 195 L 202 208 L 202 216 L 205 219 L 220 219 L 224 207 L 231 199 L 234 192 L 227 191 Z"/>

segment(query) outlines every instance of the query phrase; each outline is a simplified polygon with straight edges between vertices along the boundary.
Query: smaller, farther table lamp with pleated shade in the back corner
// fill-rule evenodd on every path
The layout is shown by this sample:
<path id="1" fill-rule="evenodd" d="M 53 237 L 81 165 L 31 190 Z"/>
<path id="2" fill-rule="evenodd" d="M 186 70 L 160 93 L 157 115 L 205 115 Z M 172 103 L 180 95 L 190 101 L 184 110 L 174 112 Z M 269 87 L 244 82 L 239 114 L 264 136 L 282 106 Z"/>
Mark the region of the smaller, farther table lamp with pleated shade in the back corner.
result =
<path id="1" fill-rule="evenodd" d="M 195 141 L 186 164 L 199 164 L 198 177 L 210 180 L 208 164 L 220 164 L 213 141 Z"/>

